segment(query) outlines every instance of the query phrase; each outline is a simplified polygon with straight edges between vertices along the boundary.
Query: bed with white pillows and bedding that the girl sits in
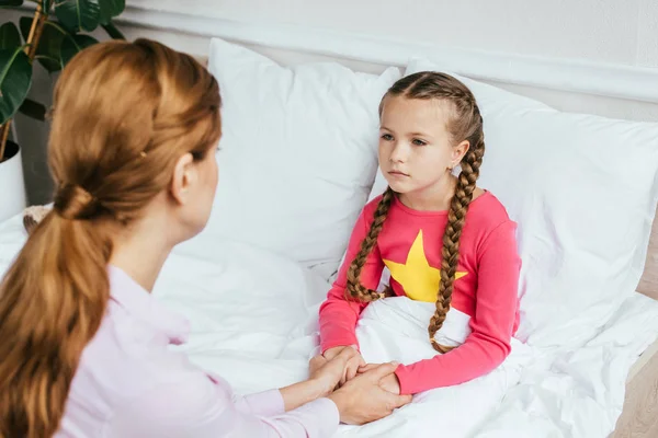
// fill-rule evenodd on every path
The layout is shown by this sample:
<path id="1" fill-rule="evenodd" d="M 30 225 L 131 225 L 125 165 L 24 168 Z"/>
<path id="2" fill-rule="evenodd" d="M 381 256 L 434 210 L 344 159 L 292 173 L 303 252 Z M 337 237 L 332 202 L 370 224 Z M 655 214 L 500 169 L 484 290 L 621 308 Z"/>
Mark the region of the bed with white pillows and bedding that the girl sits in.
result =
<path id="1" fill-rule="evenodd" d="M 174 250 L 155 290 L 193 322 L 190 343 L 179 348 L 194 362 L 220 373 L 241 393 L 305 378 L 307 360 L 317 351 L 319 303 L 355 215 L 381 189 L 368 134 L 376 119 L 360 105 L 376 106 L 382 92 L 405 70 L 442 69 L 463 74 L 486 108 L 485 119 L 492 120 L 495 128 L 486 131 L 487 141 L 499 148 L 488 149 L 488 163 L 496 165 L 487 165 L 500 171 L 484 172 L 483 184 L 501 194 L 503 204 L 524 224 L 523 235 L 538 237 L 525 239 L 521 245 L 529 258 L 526 277 L 551 270 L 532 270 L 538 269 L 533 265 L 534 254 L 544 261 L 555 257 L 546 249 L 546 242 L 555 243 L 547 229 L 563 233 L 558 243 L 567 255 L 585 243 L 588 251 L 599 251 L 603 243 L 595 242 L 595 237 L 604 235 L 604 230 L 624 232 L 604 242 L 612 251 L 609 257 L 597 253 L 587 263 L 577 261 L 588 275 L 588 281 L 582 280 L 586 284 L 564 274 L 565 284 L 589 291 L 582 295 L 587 299 L 563 297 L 581 318 L 579 313 L 560 314 L 565 307 L 544 293 L 543 285 L 525 285 L 527 290 L 537 290 L 534 303 L 523 309 L 532 323 L 525 324 L 523 342 L 515 341 L 510 359 L 499 370 L 462 388 L 418 396 L 409 407 L 365 427 L 341 426 L 338 436 L 435 436 L 439 430 L 451 437 L 478 438 L 658 436 L 658 221 L 654 219 L 658 178 L 651 168 L 651 160 L 658 163 L 658 129 L 650 124 L 589 116 L 656 122 L 658 92 L 653 85 L 658 72 L 217 18 L 181 19 L 179 12 L 164 7 L 152 11 L 131 5 L 122 16 L 122 30 L 131 38 L 152 37 L 192 54 L 208 65 L 222 85 L 229 84 L 225 87 L 229 91 L 224 96 L 223 139 L 229 146 L 219 161 L 220 184 L 211 223 L 200 237 Z M 214 46 L 208 51 L 212 37 Z M 417 60 L 409 62 L 411 56 Z M 329 62 L 318 66 L 317 61 Z M 279 106 L 269 106 L 272 102 Z M 277 118 L 282 113 L 304 117 L 304 124 L 290 129 L 285 118 Z M 546 118 L 551 115 L 557 122 Z M 522 124 L 518 117 L 524 117 Z M 553 125 L 542 130 L 547 122 Z M 332 129 L 326 130 L 326 126 Z M 568 138 L 555 137 L 560 129 L 595 137 L 604 150 L 592 168 L 628 185 L 615 188 L 604 178 L 598 183 L 637 211 L 633 221 L 605 210 L 613 215 L 611 222 L 591 222 L 564 234 L 564 220 L 580 208 L 580 198 L 575 194 L 571 204 L 559 204 L 560 193 L 568 192 L 565 184 L 578 186 L 582 181 L 576 176 L 544 184 L 538 176 L 551 175 L 529 169 L 522 176 L 529 186 L 536 185 L 542 197 L 514 192 L 523 185 L 513 188 L 515 181 L 508 175 L 515 169 L 508 163 L 533 159 L 518 152 L 521 148 L 514 138 L 506 137 L 514 129 L 526 129 L 517 130 L 514 137 L 532 135 L 537 143 L 559 147 L 563 142 L 578 147 Z M 262 145 L 249 141 L 250 136 L 262 140 L 262 131 L 276 132 L 281 143 L 288 145 L 283 154 L 287 163 L 271 155 L 269 140 L 260 141 Z M 315 132 L 326 138 L 309 146 L 305 140 Z M 628 147 L 636 149 L 629 160 L 646 162 L 646 171 L 617 165 L 615 148 L 620 141 L 625 143 L 620 139 L 628 139 Z M 245 153 L 262 158 L 253 165 L 240 166 Z M 553 169 L 569 168 L 569 163 L 551 162 L 546 151 L 537 153 Z M 288 169 L 294 176 L 291 181 L 266 178 L 271 176 L 268 165 L 291 162 L 303 162 L 309 170 Z M 334 174 L 344 178 L 337 180 Z M 583 178 L 597 175 L 590 172 Z M 299 178 L 305 178 L 304 184 Z M 582 193 L 600 196 L 586 188 Z M 314 196 L 318 193 L 322 195 Z M 272 194 L 283 197 L 274 203 Z M 523 201 L 518 200 L 523 196 Z M 295 203 L 297 198 L 303 203 Z M 290 208 L 280 208 L 281 203 Z M 555 207 L 553 216 L 548 215 L 554 219 L 548 228 L 536 217 L 544 205 Z M 232 216 L 223 215 L 223 209 Z M 0 272 L 24 239 L 20 217 L 0 223 Z M 213 245 L 207 244 L 211 240 Z M 572 261 L 560 261 L 567 260 Z M 619 265 L 617 260 L 622 261 Z M 612 272 L 605 274 L 602 266 Z M 551 268 L 559 272 L 560 264 Z M 597 297 L 599 292 L 602 297 Z M 383 304 L 377 311 L 392 314 L 399 311 L 398 304 Z M 396 324 L 415 330 L 404 316 Z M 395 349 L 395 342 L 387 343 L 379 334 L 386 326 L 377 312 L 366 315 L 359 331 L 362 343 Z M 422 348 L 418 347 L 418 354 L 428 354 Z M 390 353 L 388 357 L 394 356 Z"/>

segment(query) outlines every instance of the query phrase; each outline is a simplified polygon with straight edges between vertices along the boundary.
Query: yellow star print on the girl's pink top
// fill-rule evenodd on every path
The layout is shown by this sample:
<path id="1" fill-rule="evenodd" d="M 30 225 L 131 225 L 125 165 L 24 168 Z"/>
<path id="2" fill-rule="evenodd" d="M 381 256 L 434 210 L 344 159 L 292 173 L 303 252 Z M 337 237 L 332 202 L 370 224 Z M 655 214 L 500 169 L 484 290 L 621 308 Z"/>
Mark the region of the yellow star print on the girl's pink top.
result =
<path id="1" fill-rule="evenodd" d="M 405 288 L 405 292 L 409 298 L 417 301 L 436 301 L 441 270 L 430 266 L 426 257 L 422 230 L 418 232 L 405 264 L 387 260 L 384 261 L 384 264 L 390 270 L 390 276 Z M 466 274 L 468 273 L 456 272 L 455 280 Z"/>

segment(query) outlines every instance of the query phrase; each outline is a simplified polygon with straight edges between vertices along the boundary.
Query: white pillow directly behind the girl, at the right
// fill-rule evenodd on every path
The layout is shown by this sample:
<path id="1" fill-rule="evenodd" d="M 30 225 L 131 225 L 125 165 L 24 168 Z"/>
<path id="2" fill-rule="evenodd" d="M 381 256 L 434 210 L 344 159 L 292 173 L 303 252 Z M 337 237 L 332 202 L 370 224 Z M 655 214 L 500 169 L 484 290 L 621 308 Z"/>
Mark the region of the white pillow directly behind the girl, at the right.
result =
<path id="1" fill-rule="evenodd" d="M 406 74 L 423 70 L 444 71 L 412 59 Z M 518 336 L 579 345 L 642 276 L 658 203 L 658 124 L 559 112 L 453 76 L 473 91 L 485 120 L 478 185 L 519 223 Z M 370 198 L 385 188 L 377 172 Z"/>

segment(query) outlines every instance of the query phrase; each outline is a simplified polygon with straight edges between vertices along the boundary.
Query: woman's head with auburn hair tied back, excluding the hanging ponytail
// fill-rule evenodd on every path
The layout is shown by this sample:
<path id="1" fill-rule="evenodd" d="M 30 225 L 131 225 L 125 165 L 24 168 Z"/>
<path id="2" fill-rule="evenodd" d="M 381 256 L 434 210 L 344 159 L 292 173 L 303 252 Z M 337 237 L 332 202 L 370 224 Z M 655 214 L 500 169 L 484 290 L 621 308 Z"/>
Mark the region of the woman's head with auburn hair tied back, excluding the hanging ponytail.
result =
<path id="1" fill-rule="evenodd" d="M 188 55 L 146 39 L 88 48 L 55 89 L 56 210 L 125 224 L 163 197 L 182 238 L 198 232 L 216 186 L 219 106 L 217 81 Z"/>

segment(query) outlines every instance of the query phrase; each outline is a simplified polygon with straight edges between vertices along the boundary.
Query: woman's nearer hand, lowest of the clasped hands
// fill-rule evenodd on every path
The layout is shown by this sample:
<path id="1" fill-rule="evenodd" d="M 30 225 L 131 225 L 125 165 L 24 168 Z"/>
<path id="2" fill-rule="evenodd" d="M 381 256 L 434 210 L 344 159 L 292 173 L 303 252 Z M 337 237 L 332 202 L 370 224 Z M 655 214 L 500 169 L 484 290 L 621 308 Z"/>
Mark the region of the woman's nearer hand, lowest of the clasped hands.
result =
<path id="1" fill-rule="evenodd" d="M 373 366 L 329 395 L 338 406 L 341 422 L 353 425 L 374 422 L 411 402 L 411 395 L 396 395 L 382 388 L 383 380 L 392 374 L 395 378 L 396 368 L 397 364 Z"/>

